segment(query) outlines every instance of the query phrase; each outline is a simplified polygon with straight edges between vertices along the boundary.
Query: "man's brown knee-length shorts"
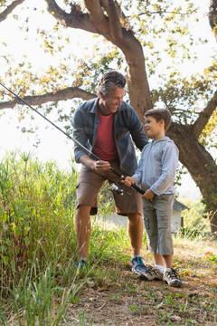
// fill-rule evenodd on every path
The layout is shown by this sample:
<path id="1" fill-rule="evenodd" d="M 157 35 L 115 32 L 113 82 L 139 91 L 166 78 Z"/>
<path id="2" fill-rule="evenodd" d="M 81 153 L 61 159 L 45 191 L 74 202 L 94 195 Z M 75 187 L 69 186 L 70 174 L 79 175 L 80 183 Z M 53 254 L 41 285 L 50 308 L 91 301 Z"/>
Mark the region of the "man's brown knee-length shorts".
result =
<path id="1" fill-rule="evenodd" d="M 112 168 L 118 170 L 119 173 L 119 161 L 114 160 L 110 162 Z M 124 175 L 124 174 L 123 174 Z M 124 175 L 126 177 L 126 175 Z M 117 182 L 120 187 L 124 187 L 120 182 L 120 178 L 116 176 L 111 170 L 105 172 L 96 172 L 81 168 L 78 178 L 77 194 L 76 194 L 76 208 L 80 205 L 90 206 L 90 215 L 96 215 L 98 212 L 97 197 L 100 188 L 105 181 L 109 183 Z M 116 204 L 116 212 L 121 216 L 128 216 L 130 213 L 143 214 L 143 203 L 141 194 L 132 187 L 124 187 L 124 190 L 131 195 L 126 194 L 113 194 Z"/>

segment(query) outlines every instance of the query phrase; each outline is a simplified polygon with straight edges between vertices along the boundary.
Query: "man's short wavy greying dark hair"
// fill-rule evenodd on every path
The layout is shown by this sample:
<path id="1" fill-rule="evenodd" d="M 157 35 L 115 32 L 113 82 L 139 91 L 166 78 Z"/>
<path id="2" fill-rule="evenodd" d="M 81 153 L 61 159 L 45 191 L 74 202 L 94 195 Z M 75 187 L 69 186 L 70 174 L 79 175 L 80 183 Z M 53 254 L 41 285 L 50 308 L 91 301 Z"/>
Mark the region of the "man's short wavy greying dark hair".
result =
<path id="1" fill-rule="evenodd" d="M 100 92 L 108 96 L 111 88 L 124 88 L 126 85 L 126 78 L 122 73 L 117 71 L 105 72 L 99 79 L 98 96 Z"/>

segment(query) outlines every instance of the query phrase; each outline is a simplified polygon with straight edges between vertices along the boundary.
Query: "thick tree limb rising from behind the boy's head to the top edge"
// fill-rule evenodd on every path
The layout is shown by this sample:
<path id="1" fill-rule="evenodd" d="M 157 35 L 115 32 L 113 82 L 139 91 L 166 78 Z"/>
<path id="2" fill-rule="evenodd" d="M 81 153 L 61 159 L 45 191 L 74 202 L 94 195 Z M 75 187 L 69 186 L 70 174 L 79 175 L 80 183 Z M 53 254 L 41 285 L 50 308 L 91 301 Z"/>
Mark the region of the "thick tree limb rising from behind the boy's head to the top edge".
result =
<path id="1" fill-rule="evenodd" d="M 145 57 L 142 45 L 133 31 L 121 25 L 124 14 L 122 15 L 117 1 L 85 0 L 89 14 L 83 14 L 78 5 L 71 5 L 71 14 L 67 14 L 54 0 L 45 1 L 48 4 L 48 11 L 61 24 L 103 35 L 125 54 L 130 104 L 137 110 L 139 118 L 143 120 L 144 112 L 152 108 Z"/>

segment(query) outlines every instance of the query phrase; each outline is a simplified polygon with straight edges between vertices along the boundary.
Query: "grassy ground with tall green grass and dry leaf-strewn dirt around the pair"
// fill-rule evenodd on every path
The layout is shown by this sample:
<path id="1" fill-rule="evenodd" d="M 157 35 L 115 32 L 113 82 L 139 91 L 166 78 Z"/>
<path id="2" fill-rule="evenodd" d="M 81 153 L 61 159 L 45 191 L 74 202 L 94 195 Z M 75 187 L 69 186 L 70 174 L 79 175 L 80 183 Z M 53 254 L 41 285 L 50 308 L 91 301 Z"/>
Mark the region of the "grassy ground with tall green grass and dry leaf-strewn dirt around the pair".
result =
<path id="1" fill-rule="evenodd" d="M 92 325 L 103 310 L 100 307 L 107 310 L 108 305 L 114 310 L 117 307 L 118 312 L 127 309 L 129 321 L 132 316 L 142 319 L 150 314 L 150 320 L 155 318 L 158 324 L 181 325 L 180 318 L 184 325 L 198 324 L 194 312 L 200 309 L 204 321 L 217 322 L 213 299 L 217 253 L 207 229 L 198 232 L 197 219 L 201 218 L 200 226 L 203 223 L 201 206 L 192 208 L 191 217 L 196 212 L 192 226 L 187 225 L 174 240 L 175 267 L 195 288 L 203 285 L 203 295 L 182 289 L 171 292 L 165 285 L 159 291 L 155 284 L 138 282 L 130 273 L 127 229 L 111 227 L 97 217 L 92 219 L 87 269 L 77 270 L 73 227 L 77 177 L 73 160 L 70 171 L 62 171 L 55 162 L 33 160 L 31 153 L 10 153 L 0 163 L 0 324 Z M 110 197 L 105 201 L 106 194 L 107 186 L 99 197 L 100 215 L 113 209 Z M 152 264 L 146 235 L 143 253 L 146 264 Z M 200 280 L 208 280 L 208 285 Z M 108 295 L 100 309 L 90 305 L 89 310 L 86 303 L 93 300 L 95 292 L 99 301 L 103 292 Z M 80 310 L 80 306 L 86 308 Z"/>

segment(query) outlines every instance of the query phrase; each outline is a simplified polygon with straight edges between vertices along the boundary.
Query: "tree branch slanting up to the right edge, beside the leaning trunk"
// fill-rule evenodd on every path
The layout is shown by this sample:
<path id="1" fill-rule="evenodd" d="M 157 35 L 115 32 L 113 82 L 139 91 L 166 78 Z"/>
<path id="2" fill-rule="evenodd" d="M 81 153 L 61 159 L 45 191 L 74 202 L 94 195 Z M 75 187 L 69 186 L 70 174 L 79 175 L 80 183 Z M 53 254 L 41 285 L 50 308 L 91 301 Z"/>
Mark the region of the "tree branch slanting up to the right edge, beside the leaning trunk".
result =
<path id="1" fill-rule="evenodd" d="M 217 91 L 215 91 L 212 100 L 208 102 L 207 106 L 199 114 L 198 119 L 194 122 L 192 127 L 193 135 L 196 139 L 200 136 L 203 128 L 206 126 L 208 120 L 212 116 L 213 111 L 217 108 Z"/>

